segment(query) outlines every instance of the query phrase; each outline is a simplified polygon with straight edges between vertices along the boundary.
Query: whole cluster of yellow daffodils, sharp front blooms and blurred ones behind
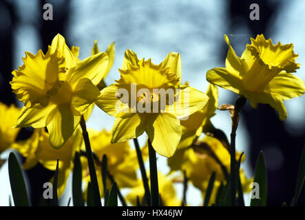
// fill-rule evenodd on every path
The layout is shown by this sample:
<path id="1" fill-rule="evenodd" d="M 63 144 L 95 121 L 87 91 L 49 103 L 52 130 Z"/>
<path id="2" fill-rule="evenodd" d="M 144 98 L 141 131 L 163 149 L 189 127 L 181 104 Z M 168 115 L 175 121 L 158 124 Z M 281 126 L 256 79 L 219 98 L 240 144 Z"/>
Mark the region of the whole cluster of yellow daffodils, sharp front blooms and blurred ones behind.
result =
<path id="1" fill-rule="evenodd" d="M 293 44 L 273 45 L 271 39 L 257 35 L 238 57 L 227 35 L 224 39 L 229 45 L 225 67 L 207 72 L 209 85 L 204 93 L 188 82 L 181 83 L 181 58 L 175 52 L 155 65 L 151 59 L 139 59 L 135 52 L 126 50 L 118 69 L 120 78 L 107 86 L 105 77 L 114 64 L 114 43 L 99 52 L 95 41 L 91 56 L 80 61 L 79 48 L 67 47 L 63 36 L 56 35 L 46 54 L 41 50 L 36 55 L 25 52 L 23 65 L 12 72 L 12 91 L 24 105 L 19 109 L 0 103 L 0 153 L 8 148 L 18 151 L 25 157 L 25 170 L 38 163 L 56 170 L 59 197 L 78 153 L 85 183 L 81 197 L 87 203 L 90 184 L 97 184 L 98 197 L 104 197 L 106 204 L 115 182 L 118 192 L 129 188 L 126 195 L 120 195 L 121 202 L 125 203 L 125 197 L 135 206 L 149 205 L 155 186 L 163 206 L 187 205 L 174 187 L 182 183 L 198 188 L 202 198 L 209 200 L 204 203 L 217 204 L 220 188 L 234 183 L 230 180 L 231 168 L 235 167 L 232 160 L 245 159 L 235 148 L 232 151 L 227 137 L 215 135 L 211 118 L 218 108 L 218 86 L 246 98 L 253 108 L 258 103 L 270 104 L 280 120 L 287 118 L 283 101 L 305 92 L 303 81 L 293 74 L 299 69 Z M 95 105 L 115 117 L 112 131 L 86 129 L 85 121 Z M 21 127 L 28 126 L 34 128 L 31 137 L 19 140 Z M 145 146 L 134 149 L 129 145 L 129 140 L 137 143 L 136 138 L 143 133 L 148 137 Z M 169 173 L 154 171 L 153 151 L 168 157 Z M 150 173 L 143 166 L 148 158 Z M 142 178 L 137 173 L 139 168 Z M 242 192 L 249 192 L 253 179 L 246 177 L 242 168 L 237 171 Z"/>

